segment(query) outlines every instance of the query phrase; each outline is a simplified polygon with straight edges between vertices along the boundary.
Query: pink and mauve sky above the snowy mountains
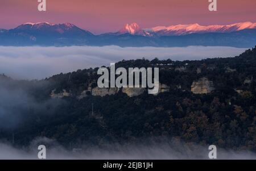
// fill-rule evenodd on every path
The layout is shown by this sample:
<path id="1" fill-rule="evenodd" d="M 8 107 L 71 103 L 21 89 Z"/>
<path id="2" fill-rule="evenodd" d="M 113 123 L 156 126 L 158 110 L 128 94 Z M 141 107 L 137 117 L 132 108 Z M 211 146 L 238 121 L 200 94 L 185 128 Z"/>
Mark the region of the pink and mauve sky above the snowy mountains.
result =
<path id="1" fill-rule="evenodd" d="M 94 34 L 114 32 L 126 23 L 142 28 L 172 24 L 231 24 L 256 22 L 255 0 L 217 0 L 217 11 L 208 0 L 46 0 L 47 11 L 38 11 L 38 0 L 1 0 L 0 28 L 22 23 L 73 23 Z"/>

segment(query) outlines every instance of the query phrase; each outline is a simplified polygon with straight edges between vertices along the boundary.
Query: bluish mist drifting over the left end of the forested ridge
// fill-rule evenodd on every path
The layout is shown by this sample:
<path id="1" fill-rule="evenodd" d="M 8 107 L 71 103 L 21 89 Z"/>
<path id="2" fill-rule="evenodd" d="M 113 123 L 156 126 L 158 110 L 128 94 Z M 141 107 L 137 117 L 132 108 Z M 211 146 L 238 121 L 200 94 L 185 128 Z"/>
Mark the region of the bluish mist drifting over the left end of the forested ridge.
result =
<path id="1" fill-rule="evenodd" d="M 48 81 L 15 81 L 0 76 L 0 131 L 18 128 L 35 116 L 54 114 L 57 106 L 63 103 L 61 99 L 35 97 L 35 92 L 45 93 L 40 90 L 49 84 Z"/>

